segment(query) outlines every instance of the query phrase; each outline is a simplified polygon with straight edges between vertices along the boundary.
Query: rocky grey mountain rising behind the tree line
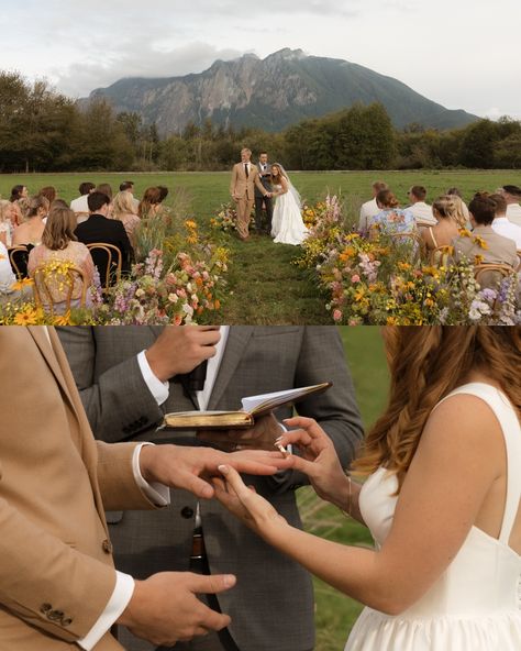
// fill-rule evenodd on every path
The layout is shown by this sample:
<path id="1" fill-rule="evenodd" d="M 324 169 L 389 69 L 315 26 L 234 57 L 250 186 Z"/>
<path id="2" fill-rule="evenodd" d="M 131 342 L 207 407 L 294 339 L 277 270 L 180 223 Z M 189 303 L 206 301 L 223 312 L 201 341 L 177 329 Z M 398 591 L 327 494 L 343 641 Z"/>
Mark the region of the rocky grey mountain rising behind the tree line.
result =
<path id="1" fill-rule="evenodd" d="M 307 118 L 351 107 L 381 102 L 395 126 L 464 126 L 476 115 L 448 110 L 392 77 L 342 59 L 307 56 L 285 48 L 259 59 L 254 54 L 224 62 L 185 77 L 128 78 L 91 92 L 117 111 L 135 111 L 159 133 L 181 131 L 210 118 L 213 124 L 280 131 Z"/>

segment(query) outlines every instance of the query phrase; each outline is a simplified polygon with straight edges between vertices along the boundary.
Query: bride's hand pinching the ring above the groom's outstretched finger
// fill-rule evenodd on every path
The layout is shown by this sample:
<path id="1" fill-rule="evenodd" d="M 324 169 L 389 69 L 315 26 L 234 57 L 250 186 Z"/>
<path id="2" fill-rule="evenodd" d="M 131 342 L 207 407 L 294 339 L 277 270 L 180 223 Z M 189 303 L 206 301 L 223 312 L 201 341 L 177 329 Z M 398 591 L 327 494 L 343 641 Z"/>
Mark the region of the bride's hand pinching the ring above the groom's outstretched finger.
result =
<path id="1" fill-rule="evenodd" d="M 276 444 L 296 445 L 300 455 L 292 455 L 293 470 L 307 474 L 317 495 L 333 504 L 343 504 L 348 479 L 342 468 L 333 441 L 312 418 L 288 418 L 288 427 L 300 429 L 284 433 Z"/>

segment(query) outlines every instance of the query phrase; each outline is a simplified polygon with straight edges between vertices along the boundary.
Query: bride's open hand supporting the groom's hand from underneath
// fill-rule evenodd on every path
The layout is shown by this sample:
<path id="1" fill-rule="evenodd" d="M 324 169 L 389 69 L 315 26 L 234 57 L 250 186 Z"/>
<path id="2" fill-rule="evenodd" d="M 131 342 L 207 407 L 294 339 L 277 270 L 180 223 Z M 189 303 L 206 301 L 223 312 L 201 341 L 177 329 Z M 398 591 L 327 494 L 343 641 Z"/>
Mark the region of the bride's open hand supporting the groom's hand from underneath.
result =
<path id="1" fill-rule="evenodd" d="M 217 499 L 247 527 L 269 540 L 271 533 L 287 523 L 269 501 L 244 484 L 236 470 L 220 465 L 219 471 L 223 478 L 212 478 Z"/>

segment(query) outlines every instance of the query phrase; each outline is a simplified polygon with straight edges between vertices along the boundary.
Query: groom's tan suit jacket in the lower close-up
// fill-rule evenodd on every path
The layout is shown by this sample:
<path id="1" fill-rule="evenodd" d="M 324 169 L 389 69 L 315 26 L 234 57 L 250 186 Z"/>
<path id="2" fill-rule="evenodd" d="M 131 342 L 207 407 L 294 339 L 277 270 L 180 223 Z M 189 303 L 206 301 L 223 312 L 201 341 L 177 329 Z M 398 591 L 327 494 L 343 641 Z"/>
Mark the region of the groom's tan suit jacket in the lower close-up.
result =
<path id="1" fill-rule="evenodd" d="M 78 649 L 115 585 L 103 509 L 154 508 L 96 442 L 54 330 L 0 328 L 0 649 Z M 121 651 L 107 633 L 96 651 Z"/>

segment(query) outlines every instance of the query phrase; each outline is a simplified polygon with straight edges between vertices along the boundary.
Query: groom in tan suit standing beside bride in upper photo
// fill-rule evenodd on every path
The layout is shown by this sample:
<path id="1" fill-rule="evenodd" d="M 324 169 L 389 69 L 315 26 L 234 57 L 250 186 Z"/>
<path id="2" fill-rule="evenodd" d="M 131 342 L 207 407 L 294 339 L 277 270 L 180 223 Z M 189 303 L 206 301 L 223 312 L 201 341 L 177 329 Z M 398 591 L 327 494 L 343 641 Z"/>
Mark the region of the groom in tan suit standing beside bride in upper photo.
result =
<path id="1" fill-rule="evenodd" d="M 251 162 L 252 152 L 244 148 L 241 152 L 241 163 L 233 166 L 230 195 L 237 205 L 237 231 L 241 240 L 250 238 L 250 216 L 255 202 L 255 187 L 263 197 L 270 197 L 260 181 L 258 169 Z"/>

